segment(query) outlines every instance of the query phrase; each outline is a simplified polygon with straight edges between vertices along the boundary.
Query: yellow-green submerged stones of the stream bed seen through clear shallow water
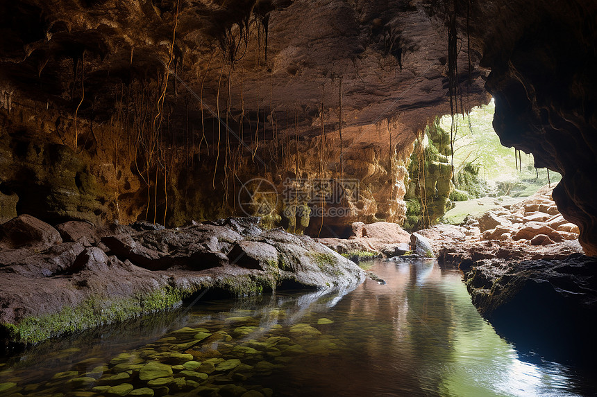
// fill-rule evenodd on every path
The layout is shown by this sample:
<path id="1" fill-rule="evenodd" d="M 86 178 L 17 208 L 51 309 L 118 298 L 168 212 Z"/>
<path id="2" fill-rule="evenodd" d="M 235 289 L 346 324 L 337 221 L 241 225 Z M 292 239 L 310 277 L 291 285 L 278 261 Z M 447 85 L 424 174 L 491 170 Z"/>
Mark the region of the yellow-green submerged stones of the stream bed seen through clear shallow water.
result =
<path id="1" fill-rule="evenodd" d="M 194 317 L 199 324 L 174 327 L 135 348 L 104 358 L 87 357 L 42 376 L 20 378 L 20 369 L 13 376 L 1 364 L 0 392 L 15 397 L 57 393 L 73 397 L 271 397 L 274 390 L 269 387 L 275 387 L 271 375 L 283 371 L 289 361 L 317 360 L 348 348 L 344 339 L 330 333 L 335 321 L 303 315 L 305 303 L 325 306 L 338 293 L 342 296 L 348 291 L 308 292 L 299 303 L 282 297 L 285 306 L 271 312 L 203 312 Z M 230 308 L 226 304 L 215 307 Z"/>

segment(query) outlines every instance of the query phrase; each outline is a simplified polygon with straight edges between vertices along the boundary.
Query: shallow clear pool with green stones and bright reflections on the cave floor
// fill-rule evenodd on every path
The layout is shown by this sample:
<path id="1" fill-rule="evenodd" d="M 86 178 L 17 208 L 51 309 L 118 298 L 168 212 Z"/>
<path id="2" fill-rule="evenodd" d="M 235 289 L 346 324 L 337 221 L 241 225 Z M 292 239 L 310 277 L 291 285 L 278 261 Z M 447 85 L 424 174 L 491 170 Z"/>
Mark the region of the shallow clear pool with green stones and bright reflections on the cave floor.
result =
<path id="1" fill-rule="evenodd" d="M 591 373 L 521 358 L 478 315 L 460 272 L 433 261 L 379 261 L 371 271 L 386 284 L 367 279 L 353 290 L 201 299 L 151 320 L 40 346 L 0 364 L 0 395 L 115 396 L 123 389 L 108 388 L 123 384 L 131 385 L 124 391 L 149 386 L 155 396 L 597 392 Z M 173 374 L 148 385 L 140 371 L 155 360 L 174 365 Z"/>

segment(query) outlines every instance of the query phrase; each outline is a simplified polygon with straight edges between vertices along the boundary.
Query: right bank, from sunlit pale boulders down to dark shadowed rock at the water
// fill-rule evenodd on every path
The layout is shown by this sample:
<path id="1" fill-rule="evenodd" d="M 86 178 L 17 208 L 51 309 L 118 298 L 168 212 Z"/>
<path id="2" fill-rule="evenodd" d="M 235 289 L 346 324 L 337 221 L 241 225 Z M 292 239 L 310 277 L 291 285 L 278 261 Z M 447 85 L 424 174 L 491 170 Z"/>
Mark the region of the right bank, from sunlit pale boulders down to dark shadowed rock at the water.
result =
<path id="1" fill-rule="evenodd" d="M 509 209 L 421 231 L 439 265 L 460 268 L 478 311 L 529 355 L 585 360 L 597 348 L 597 259 L 541 188 Z"/>

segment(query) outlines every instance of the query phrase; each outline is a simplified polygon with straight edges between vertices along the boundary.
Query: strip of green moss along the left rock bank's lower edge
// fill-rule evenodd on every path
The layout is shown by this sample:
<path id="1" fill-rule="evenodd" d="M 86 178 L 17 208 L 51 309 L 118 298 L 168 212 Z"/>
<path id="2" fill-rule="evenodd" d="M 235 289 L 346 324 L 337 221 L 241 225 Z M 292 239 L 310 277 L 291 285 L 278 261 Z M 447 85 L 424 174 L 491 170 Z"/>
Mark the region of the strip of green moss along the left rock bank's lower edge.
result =
<path id="1" fill-rule="evenodd" d="M 193 292 L 168 285 L 150 294 L 139 293 L 124 299 L 106 301 L 101 297 L 89 297 L 75 308 L 66 307 L 51 315 L 26 317 L 18 324 L 0 324 L 0 328 L 11 341 L 35 344 L 53 336 L 167 310 Z"/>

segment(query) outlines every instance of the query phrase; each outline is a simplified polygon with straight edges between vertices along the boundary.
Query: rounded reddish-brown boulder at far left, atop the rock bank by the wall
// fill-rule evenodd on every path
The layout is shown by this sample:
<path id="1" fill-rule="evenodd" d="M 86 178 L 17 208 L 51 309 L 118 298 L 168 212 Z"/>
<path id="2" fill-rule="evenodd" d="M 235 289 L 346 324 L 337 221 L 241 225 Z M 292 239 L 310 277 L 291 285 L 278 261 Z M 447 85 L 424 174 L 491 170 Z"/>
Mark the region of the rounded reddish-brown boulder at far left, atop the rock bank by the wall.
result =
<path id="1" fill-rule="evenodd" d="M 31 215 L 19 215 L 0 226 L 1 248 L 26 247 L 43 251 L 61 242 L 58 230 Z"/>

